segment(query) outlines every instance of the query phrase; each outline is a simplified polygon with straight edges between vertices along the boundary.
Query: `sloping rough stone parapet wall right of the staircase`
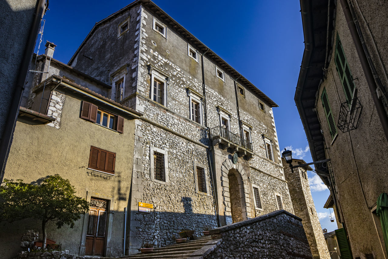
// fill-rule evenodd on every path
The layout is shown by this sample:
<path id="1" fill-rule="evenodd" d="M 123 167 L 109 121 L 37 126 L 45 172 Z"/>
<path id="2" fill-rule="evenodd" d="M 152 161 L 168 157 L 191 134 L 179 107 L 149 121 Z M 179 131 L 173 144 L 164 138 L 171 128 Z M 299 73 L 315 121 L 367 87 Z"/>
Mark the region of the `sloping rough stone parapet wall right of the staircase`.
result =
<path id="1" fill-rule="evenodd" d="M 206 259 L 312 258 L 301 219 L 284 210 L 210 231 L 221 244 Z"/>

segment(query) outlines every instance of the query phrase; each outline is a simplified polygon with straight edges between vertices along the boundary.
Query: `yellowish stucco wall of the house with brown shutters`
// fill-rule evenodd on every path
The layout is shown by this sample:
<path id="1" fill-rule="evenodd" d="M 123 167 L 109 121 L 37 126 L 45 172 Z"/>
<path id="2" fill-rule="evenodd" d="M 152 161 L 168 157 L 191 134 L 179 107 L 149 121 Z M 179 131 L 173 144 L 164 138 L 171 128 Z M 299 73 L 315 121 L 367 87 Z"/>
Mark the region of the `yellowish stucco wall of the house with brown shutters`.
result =
<path id="1" fill-rule="evenodd" d="M 106 254 L 120 256 L 123 253 L 124 208 L 128 206 L 132 180 L 134 122 L 125 119 L 124 133 L 120 134 L 81 119 L 80 107 L 81 99 L 66 95 L 59 128 L 46 124 L 31 125 L 20 119 L 16 125 L 5 178 L 34 182 L 58 173 L 70 180 L 78 196 L 86 199 L 87 195 L 91 195 L 111 200 L 114 204 L 110 206 L 113 209 L 109 215 L 113 217 L 113 224 Z M 112 179 L 104 180 L 88 174 L 92 171 L 87 169 L 90 146 L 116 152 L 115 175 Z M 56 229 L 54 224 L 49 223 L 48 238 L 62 243 L 62 248 L 72 254 L 78 254 L 84 217 L 76 222 L 73 229 L 68 226 Z M 40 222 L 34 219 L 12 224 L 2 222 L 0 257 L 16 256 L 26 229 L 40 228 Z"/>

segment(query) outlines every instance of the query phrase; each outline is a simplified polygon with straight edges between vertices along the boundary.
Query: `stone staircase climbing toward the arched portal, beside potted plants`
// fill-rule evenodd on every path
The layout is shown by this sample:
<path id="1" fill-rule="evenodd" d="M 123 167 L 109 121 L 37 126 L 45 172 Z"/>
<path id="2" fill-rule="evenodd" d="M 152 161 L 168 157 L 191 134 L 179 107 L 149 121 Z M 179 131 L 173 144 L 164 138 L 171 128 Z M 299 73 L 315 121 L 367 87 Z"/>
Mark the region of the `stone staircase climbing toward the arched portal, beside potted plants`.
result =
<path id="1" fill-rule="evenodd" d="M 181 244 L 168 245 L 166 247 L 155 248 L 151 254 L 133 254 L 130 256 L 122 256 L 120 258 L 133 259 L 173 259 L 173 258 L 187 258 L 196 250 L 203 247 L 211 240 L 210 236 L 196 238 L 194 240 L 186 241 Z"/>

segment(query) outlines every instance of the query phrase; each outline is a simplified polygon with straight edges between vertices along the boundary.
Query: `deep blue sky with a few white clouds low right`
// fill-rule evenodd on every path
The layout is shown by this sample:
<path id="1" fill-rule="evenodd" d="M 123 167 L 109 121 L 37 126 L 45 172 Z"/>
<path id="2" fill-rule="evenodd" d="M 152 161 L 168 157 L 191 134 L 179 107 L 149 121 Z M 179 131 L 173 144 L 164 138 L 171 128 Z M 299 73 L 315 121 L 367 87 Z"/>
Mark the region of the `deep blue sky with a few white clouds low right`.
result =
<path id="1" fill-rule="evenodd" d="M 54 58 L 68 63 L 97 21 L 130 2 L 50 1 L 39 54 L 49 40 L 57 45 Z M 299 1 L 154 2 L 279 105 L 274 117 L 281 150 L 291 148 L 294 158 L 311 162 L 294 102 L 304 50 Z M 37 48 L 38 44 L 35 52 Z M 323 208 L 329 190 L 315 173 L 309 172 L 308 177 L 322 228 L 332 231 L 336 224 L 329 221 L 329 210 Z"/>

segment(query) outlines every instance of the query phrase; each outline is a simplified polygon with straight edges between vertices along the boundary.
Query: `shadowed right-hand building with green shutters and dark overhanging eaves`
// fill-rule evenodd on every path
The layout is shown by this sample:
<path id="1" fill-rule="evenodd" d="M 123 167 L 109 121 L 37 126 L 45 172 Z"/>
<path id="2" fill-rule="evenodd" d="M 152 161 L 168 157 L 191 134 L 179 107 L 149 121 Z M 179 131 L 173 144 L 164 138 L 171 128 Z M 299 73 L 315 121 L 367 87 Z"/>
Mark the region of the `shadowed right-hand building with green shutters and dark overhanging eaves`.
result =
<path id="1" fill-rule="evenodd" d="M 315 169 L 331 191 L 341 258 L 387 258 L 376 215 L 387 192 L 387 10 L 381 1 L 301 1 L 295 102 L 314 161 L 331 159 Z"/>

